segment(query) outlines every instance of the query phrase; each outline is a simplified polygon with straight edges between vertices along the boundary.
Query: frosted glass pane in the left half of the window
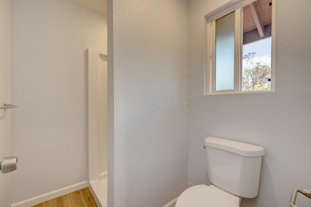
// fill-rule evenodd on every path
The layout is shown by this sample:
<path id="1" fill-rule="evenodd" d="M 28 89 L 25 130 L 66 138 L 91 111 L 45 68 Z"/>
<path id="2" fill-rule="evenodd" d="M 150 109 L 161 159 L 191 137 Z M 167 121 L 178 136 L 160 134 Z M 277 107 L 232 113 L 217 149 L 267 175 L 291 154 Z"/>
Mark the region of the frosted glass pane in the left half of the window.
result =
<path id="1" fill-rule="evenodd" d="M 216 20 L 215 90 L 234 89 L 235 12 Z"/>

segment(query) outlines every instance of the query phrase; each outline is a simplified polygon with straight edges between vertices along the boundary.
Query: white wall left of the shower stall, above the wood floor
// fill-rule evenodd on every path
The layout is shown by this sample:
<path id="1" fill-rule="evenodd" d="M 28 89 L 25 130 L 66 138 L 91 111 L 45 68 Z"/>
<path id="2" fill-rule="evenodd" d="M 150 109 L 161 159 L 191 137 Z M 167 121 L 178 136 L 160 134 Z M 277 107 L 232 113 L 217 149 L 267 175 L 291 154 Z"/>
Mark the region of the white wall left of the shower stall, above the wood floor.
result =
<path id="1" fill-rule="evenodd" d="M 106 18 L 68 0 L 12 0 L 13 202 L 87 180 L 86 53 Z"/>

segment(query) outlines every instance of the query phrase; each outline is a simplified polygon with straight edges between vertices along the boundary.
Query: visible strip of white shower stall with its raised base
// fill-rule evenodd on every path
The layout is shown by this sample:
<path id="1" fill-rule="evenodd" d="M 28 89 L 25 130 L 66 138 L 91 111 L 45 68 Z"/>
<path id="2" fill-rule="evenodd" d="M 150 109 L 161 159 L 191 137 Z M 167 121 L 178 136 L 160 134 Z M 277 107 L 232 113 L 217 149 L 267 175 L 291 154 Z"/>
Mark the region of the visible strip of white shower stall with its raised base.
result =
<path id="1" fill-rule="evenodd" d="M 88 180 L 99 207 L 107 206 L 107 53 L 87 49 Z"/>

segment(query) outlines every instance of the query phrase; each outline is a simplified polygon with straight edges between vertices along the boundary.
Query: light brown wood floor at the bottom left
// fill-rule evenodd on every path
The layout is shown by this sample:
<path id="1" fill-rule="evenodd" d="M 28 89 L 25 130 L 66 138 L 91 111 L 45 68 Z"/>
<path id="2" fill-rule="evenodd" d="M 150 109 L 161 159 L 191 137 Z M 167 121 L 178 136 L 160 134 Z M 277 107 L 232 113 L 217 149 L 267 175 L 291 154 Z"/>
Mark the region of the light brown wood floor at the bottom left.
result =
<path id="1" fill-rule="evenodd" d="M 89 188 L 84 188 L 32 207 L 97 207 L 97 205 Z"/>

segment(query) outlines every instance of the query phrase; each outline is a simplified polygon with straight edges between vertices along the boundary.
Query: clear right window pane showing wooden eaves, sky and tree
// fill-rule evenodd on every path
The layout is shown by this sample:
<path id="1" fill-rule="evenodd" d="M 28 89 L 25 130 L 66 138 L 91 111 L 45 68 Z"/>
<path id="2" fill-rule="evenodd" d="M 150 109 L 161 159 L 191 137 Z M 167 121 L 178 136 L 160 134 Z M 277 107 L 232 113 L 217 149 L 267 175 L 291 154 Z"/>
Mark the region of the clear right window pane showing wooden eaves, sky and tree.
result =
<path id="1" fill-rule="evenodd" d="M 271 27 L 269 2 L 243 7 L 242 91 L 271 90 Z"/>

